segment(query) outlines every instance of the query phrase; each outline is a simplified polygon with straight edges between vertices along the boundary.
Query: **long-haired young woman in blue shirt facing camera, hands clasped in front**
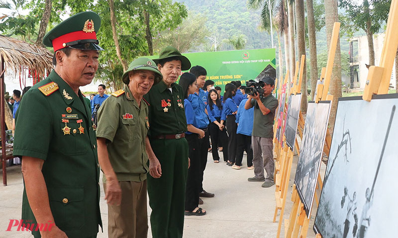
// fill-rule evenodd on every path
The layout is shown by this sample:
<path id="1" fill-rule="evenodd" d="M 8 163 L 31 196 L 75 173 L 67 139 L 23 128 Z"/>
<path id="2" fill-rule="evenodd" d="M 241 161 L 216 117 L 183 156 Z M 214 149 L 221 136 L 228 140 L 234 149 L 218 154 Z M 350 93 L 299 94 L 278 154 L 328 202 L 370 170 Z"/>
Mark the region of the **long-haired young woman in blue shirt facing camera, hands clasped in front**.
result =
<path id="1" fill-rule="evenodd" d="M 218 163 L 220 161 L 220 157 L 218 156 L 217 147 L 221 146 L 222 154 L 224 157 L 224 161 L 228 161 L 228 135 L 225 131 L 225 115 L 222 113 L 222 103 L 218 98 L 218 93 L 215 89 L 211 89 L 208 92 L 207 96 L 207 114 L 211 123 L 209 124 L 209 132 L 210 132 L 210 140 L 211 146 L 213 150 L 211 151 L 213 155 L 214 163 Z M 218 141 L 221 141 L 219 144 Z"/>

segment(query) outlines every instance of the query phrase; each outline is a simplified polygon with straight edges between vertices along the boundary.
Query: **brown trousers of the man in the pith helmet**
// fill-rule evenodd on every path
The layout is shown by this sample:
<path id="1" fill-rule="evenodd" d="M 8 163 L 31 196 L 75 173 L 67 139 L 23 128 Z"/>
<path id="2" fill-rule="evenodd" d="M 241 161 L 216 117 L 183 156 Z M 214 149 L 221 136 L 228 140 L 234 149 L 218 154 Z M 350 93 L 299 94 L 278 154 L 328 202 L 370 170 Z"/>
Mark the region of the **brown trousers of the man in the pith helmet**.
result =
<path id="1" fill-rule="evenodd" d="M 119 181 L 119 185 L 120 206 L 108 204 L 108 237 L 146 238 L 148 236 L 147 181 Z M 106 183 L 103 184 L 103 189 L 105 188 Z"/>

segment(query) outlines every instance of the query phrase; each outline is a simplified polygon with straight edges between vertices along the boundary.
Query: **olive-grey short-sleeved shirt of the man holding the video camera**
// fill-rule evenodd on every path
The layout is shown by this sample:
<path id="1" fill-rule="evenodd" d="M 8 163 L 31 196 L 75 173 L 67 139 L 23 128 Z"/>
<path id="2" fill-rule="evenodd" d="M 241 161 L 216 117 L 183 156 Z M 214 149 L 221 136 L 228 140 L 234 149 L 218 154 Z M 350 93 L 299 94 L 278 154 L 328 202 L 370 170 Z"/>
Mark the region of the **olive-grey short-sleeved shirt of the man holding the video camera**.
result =
<path id="1" fill-rule="evenodd" d="M 267 97 L 261 98 L 264 106 L 268 108 L 271 112 L 267 115 L 263 115 L 261 109 L 257 105 L 257 101 L 252 99 L 251 105 L 254 106 L 254 120 L 253 120 L 253 136 L 259 136 L 264 138 L 274 137 L 274 118 L 275 110 L 278 108 L 278 100 L 272 96 L 272 94 Z"/>

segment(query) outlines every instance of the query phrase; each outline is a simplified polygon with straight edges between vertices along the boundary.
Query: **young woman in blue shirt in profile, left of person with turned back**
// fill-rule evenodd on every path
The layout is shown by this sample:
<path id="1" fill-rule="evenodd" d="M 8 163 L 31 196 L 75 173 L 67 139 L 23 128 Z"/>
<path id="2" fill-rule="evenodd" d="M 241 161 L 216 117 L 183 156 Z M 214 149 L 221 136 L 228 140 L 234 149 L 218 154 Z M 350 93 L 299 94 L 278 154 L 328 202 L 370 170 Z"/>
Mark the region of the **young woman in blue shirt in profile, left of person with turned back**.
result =
<path id="1" fill-rule="evenodd" d="M 228 166 L 233 166 L 236 161 L 236 129 L 237 124 L 236 120 L 236 112 L 238 111 L 238 107 L 235 102 L 232 100 L 232 97 L 236 94 L 236 86 L 232 83 L 227 83 L 225 85 L 225 93 L 224 93 L 224 105 L 222 108 L 223 114 L 226 117 L 226 127 L 228 132 Z M 224 150 L 224 149 L 223 149 Z"/>

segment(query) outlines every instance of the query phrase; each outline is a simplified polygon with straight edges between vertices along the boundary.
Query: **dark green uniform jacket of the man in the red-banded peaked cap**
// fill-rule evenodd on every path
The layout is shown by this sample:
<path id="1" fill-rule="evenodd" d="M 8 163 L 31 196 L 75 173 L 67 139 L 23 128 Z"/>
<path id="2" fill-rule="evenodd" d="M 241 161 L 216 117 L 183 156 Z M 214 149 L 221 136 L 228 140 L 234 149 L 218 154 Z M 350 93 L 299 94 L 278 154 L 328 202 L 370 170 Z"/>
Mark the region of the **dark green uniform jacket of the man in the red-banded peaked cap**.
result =
<path id="1" fill-rule="evenodd" d="M 13 154 L 44 160 L 51 212 L 69 238 L 95 236 L 102 226 L 97 140 L 83 100 L 53 70 L 26 92 L 15 116 Z M 25 189 L 22 219 L 37 223 Z"/>

